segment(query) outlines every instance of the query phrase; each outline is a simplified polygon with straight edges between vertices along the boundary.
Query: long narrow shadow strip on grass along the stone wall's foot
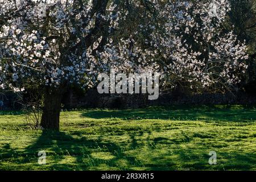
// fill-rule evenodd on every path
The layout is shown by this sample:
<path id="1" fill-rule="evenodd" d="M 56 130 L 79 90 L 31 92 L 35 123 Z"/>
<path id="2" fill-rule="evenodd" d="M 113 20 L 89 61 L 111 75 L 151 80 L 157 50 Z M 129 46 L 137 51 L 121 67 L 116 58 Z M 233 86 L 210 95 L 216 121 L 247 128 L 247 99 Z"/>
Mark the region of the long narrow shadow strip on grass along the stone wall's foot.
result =
<path id="1" fill-rule="evenodd" d="M 170 106 L 135 110 L 87 110 L 82 117 L 102 119 L 171 119 L 177 121 L 256 121 L 254 107 Z"/>

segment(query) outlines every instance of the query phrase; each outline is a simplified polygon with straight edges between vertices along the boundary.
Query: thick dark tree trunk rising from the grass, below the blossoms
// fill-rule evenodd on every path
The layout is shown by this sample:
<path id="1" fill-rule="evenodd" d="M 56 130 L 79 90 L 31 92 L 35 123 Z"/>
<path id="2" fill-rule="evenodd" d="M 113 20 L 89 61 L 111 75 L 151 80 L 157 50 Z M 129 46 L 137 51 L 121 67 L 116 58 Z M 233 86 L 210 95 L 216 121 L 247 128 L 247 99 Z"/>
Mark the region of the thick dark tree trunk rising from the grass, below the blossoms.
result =
<path id="1" fill-rule="evenodd" d="M 59 130 L 63 89 L 49 89 L 44 93 L 44 107 L 40 125 L 43 129 Z"/>

